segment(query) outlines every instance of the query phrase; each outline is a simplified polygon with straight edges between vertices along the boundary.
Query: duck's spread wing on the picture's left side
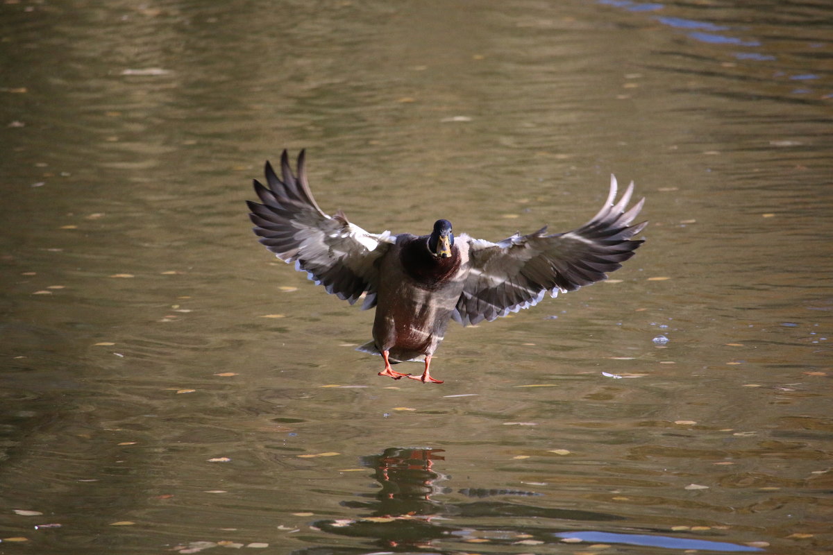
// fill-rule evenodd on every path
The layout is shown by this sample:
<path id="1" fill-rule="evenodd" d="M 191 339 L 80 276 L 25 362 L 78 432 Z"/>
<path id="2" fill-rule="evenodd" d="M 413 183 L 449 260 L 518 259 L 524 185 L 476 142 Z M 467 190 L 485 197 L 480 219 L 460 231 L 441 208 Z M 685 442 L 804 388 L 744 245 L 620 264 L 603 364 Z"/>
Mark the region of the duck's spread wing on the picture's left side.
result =
<path id="1" fill-rule="evenodd" d="M 278 258 L 295 262 L 296 270 L 306 271 L 309 279 L 324 285 L 327 293 L 352 305 L 367 291 L 362 308 L 371 308 L 376 305 L 378 283 L 374 262 L 394 239 L 390 231 L 377 235 L 353 225 L 342 211 L 336 216 L 322 212 L 307 184 L 304 156 L 304 151 L 298 155 L 297 176 L 289 166 L 287 151 L 283 151 L 283 179 L 267 162 L 267 186 L 254 180 L 263 203 L 247 201 L 255 235 Z"/>

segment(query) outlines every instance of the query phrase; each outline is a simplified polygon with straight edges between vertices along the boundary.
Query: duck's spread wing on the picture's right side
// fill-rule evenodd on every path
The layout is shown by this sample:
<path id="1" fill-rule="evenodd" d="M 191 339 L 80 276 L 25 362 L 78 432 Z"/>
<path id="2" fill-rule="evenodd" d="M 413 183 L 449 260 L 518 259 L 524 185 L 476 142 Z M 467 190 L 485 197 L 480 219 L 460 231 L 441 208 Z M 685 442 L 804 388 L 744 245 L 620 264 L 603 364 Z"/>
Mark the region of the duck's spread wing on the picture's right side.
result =
<path id="1" fill-rule="evenodd" d="M 642 240 L 631 240 L 647 222 L 631 225 L 645 199 L 625 211 L 633 182 L 616 199 L 616 177 L 605 206 L 577 230 L 546 235 L 512 235 L 498 243 L 469 239 L 471 273 L 451 317 L 463 325 L 495 320 L 536 305 L 549 292 L 576 290 L 606 280 L 634 255 Z"/>

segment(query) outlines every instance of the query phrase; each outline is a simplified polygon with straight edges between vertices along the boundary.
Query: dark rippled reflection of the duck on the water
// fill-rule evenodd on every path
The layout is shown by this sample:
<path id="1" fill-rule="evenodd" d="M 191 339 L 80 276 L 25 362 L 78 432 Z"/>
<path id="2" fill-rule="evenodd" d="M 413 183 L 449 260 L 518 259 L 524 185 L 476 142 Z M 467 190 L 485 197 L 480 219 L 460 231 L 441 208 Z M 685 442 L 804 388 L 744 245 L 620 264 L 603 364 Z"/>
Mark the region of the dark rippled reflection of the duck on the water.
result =
<path id="1" fill-rule="evenodd" d="M 342 506 L 363 509 L 361 516 L 321 520 L 314 526 L 342 536 L 375 538 L 384 548 L 437 548 L 439 538 L 456 543 L 485 540 L 511 544 L 522 538 L 546 538 L 552 542 L 553 528 L 547 523 L 521 525 L 524 518 L 551 518 L 582 521 L 620 520 L 606 513 L 571 509 L 542 508 L 531 503 L 504 501 L 501 497 L 536 497 L 540 493 L 491 488 L 454 489 L 451 476 L 437 471 L 445 460 L 442 449 L 387 448 L 362 462 L 375 469 L 381 485 L 376 493 L 357 493 L 361 500 L 348 500 Z M 438 501 L 444 494 L 449 501 Z M 461 499 L 465 496 L 465 499 Z M 456 500 L 454 500 L 456 499 Z M 471 500 L 476 499 L 476 500 Z M 445 543 L 445 542 L 443 542 Z M 449 546 L 451 547 L 451 546 Z M 352 553 L 347 549 L 343 553 Z M 334 551 L 332 553 L 342 553 Z"/>

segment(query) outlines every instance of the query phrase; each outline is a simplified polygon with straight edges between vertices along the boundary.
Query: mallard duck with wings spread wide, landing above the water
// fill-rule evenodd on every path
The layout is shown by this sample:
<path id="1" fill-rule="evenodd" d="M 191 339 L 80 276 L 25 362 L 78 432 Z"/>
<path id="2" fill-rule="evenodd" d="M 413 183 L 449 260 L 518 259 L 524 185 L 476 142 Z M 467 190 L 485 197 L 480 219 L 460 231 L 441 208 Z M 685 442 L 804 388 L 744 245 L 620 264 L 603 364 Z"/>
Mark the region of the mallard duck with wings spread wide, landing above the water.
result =
<path id="1" fill-rule="evenodd" d="M 305 154 L 292 173 L 287 151 L 278 178 L 266 163 L 266 182 L 254 180 L 262 204 L 248 201 L 254 232 L 278 258 L 294 262 L 327 293 L 362 309 L 376 307 L 373 339 L 359 350 L 381 354 L 380 376 L 441 384 L 431 376 L 431 356 L 449 320 L 462 325 L 495 320 L 527 309 L 549 293 L 576 290 L 605 280 L 621 268 L 642 240 L 632 240 L 647 222 L 631 225 L 645 199 L 626 211 L 633 183 L 616 201 L 611 176 L 605 205 L 576 230 L 547 234 L 546 226 L 492 243 L 465 233 L 455 237 L 451 222 L 437 220 L 428 235 L 369 233 L 342 211 L 327 216 L 307 183 Z M 391 364 L 424 360 L 420 376 Z"/>

